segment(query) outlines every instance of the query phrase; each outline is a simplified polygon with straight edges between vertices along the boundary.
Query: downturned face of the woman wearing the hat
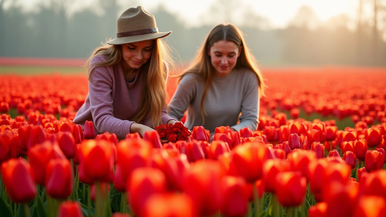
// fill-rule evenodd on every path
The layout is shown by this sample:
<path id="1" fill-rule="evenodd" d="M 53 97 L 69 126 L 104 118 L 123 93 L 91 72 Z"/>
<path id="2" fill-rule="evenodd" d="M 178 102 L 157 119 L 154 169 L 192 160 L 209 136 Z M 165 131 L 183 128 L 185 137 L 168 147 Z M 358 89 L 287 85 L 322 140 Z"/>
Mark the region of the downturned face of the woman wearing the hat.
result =
<path id="1" fill-rule="evenodd" d="M 122 66 L 125 69 L 138 69 L 146 63 L 153 51 L 154 40 L 122 44 Z"/>

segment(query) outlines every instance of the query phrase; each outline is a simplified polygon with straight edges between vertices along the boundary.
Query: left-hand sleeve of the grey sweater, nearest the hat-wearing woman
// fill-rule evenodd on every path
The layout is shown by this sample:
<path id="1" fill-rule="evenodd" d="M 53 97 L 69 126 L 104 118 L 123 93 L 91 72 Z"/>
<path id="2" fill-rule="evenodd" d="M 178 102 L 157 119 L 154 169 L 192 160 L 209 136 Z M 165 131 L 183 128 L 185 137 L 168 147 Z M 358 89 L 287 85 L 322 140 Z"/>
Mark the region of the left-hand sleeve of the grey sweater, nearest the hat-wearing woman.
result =
<path id="1" fill-rule="evenodd" d="M 193 75 L 185 75 L 179 82 L 173 98 L 169 103 L 170 117 L 181 120 L 184 116 L 186 108 L 190 105 L 196 95 L 195 77 Z"/>

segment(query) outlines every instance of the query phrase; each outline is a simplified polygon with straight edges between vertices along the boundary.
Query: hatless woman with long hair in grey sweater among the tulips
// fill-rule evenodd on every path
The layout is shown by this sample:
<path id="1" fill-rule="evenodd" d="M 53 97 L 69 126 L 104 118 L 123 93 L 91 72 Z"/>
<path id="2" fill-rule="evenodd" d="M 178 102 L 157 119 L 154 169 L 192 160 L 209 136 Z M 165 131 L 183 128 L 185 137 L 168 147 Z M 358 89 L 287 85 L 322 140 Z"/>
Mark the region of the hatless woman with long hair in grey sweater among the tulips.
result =
<path id="1" fill-rule="evenodd" d="M 220 24 L 182 74 L 169 115 L 180 120 L 187 109 L 185 126 L 203 126 L 211 134 L 219 126 L 255 131 L 265 86 L 242 32 L 232 24 Z"/>

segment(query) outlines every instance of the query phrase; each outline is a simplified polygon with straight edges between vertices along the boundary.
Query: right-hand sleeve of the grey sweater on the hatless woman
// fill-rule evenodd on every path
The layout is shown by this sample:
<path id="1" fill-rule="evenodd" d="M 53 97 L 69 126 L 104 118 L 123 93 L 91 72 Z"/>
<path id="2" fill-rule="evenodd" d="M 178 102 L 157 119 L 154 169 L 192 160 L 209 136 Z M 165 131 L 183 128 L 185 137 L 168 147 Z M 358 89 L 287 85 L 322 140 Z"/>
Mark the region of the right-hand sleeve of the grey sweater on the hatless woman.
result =
<path id="1" fill-rule="evenodd" d="M 246 76 L 247 84 L 245 85 L 244 99 L 241 104 L 240 123 L 230 127 L 236 131 L 240 131 L 240 129 L 245 127 L 249 127 L 251 131 L 256 131 L 257 128 L 260 104 L 259 84 L 255 75 L 252 73 L 249 75 Z"/>

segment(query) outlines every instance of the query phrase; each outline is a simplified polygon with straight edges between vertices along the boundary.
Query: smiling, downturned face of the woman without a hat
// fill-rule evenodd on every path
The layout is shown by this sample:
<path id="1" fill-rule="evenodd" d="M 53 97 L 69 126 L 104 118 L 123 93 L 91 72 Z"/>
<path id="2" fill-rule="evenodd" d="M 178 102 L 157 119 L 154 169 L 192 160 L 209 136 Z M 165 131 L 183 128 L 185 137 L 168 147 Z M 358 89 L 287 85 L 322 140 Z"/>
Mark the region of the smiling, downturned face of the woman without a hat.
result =
<path id="1" fill-rule="evenodd" d="M 233 41 L 217 41 L 208 49 L 210 61 L 215 68 L 215 75 L 225 77 L 232 73 L 240 56 L 242 47 L 238 47 Z"/>

